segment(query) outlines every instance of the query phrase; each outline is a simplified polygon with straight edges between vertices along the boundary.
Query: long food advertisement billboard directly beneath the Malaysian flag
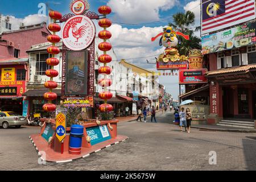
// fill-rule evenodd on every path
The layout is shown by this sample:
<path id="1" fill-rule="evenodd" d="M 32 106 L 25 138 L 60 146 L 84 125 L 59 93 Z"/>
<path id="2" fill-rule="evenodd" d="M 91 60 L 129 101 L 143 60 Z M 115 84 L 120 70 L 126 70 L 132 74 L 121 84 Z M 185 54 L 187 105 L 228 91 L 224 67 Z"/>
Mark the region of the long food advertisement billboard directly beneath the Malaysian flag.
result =
<path id="1" fill-rule="evenodd" d="M 250 46 L 256 43 L 256 22 L 202 37 L 202 54 Z"/>

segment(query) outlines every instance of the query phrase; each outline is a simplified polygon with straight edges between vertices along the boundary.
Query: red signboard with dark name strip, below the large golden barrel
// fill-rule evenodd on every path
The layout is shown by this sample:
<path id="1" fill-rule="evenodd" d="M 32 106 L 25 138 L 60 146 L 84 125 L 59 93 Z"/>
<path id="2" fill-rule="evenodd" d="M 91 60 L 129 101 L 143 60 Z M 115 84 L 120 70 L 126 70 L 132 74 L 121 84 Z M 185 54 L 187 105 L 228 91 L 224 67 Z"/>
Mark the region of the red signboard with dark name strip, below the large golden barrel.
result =
<path id="1" fill-rule="evenodd" d="M 205 73 L 207 69 L 186 69 L 179 71 L 180 84 L 204 84 L 208 83 Z"/>

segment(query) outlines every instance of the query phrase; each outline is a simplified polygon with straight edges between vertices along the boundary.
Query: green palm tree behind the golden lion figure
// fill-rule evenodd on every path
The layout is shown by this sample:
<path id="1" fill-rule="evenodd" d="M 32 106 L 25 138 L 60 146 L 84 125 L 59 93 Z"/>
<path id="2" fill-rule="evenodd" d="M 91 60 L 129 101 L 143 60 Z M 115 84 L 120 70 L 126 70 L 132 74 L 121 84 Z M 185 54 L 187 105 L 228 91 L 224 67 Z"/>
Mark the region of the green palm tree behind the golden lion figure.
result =
<path id="1" fill-rule="evenodd" d="M 177 46 L 180 55 L 188 55 L 192 49 L 201 49 L 201 39 L 195 36 L 192 27 L 195 24 L 195 14 L 191 11 L 185 13 L 177 13 L 172 16 L 174 23 L 169 23 L 169 26 L 176 31 L 189 35 L 189 40 L 182 39 L 181 43 Z M 199 27 L 196 27 L 199 30 Z"/>

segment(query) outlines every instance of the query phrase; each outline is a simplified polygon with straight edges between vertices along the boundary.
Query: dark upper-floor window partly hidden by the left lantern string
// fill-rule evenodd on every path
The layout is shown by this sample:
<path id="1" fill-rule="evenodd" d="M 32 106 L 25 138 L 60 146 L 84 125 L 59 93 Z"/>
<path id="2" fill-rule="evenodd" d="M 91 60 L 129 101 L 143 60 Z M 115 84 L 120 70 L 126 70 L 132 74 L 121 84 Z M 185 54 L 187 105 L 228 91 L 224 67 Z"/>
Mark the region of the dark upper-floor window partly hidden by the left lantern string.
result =
<path id="1" fill-rule="evenodd" d="M 46 60 L 51 57 L 48 53 L 36 55 L 36 75 L 46 75 L 50 66 L 46 64 Z"/>

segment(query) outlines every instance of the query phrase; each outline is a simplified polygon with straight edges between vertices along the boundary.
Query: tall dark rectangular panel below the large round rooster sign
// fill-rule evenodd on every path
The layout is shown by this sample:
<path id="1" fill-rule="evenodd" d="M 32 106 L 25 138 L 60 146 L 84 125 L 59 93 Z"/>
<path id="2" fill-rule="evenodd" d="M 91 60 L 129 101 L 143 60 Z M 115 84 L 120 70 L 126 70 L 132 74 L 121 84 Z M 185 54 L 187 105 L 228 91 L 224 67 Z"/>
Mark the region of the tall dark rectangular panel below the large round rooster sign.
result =
<path id="1" fill-rule="evenodd" d="M 87 95 L 88 51 L 67 51 L 65 95 Z"/>

